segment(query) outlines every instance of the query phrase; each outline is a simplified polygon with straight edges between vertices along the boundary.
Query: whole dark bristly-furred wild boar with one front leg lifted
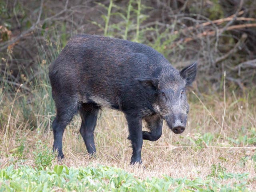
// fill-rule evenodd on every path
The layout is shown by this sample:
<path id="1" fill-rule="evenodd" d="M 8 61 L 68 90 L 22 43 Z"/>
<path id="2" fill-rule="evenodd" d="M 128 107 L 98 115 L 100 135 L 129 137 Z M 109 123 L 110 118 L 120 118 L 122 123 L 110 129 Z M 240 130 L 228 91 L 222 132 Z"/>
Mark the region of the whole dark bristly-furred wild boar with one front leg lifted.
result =
<path id="1" fill-rule="evenodd" d="M 135 42 L 103 36 L 71 39 L 49 68 L 56 104 L 54 150 L 63 158 L 62 135 L 78 111 L 80 133 L 90 154 L 98 111 L 124 112 L 132 141 L 131 163 L 141 162 L 142 139 L 155 141 L 166 120 L 174 133 L 186 126 L 188 103 L 184 89 L 194 81 L 196 63 L 178 71 L 156 50 Z M 150 132 L 142 132 L 145 119 Z"/>

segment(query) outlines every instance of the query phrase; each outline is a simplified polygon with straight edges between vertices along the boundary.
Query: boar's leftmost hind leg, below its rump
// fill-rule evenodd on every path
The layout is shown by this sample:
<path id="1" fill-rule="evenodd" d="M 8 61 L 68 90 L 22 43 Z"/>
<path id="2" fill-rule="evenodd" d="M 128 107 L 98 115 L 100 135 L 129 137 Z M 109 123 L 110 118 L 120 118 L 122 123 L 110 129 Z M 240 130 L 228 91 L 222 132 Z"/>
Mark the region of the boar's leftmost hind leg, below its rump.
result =
<path id="1" fill-rule="evenodd" d="M 68 102 L 67 102 L 68 103 Z M 70 103 L 71 104 L 71 103 Z M 74 114 L 77 112 L 77 106 L 63 106 L 62 104 L 58 106 L 58 102 L 56 102 L 56 118 L 52 122 L 53 136 L 54 136 L 54 144 L 53 151 L 57 151 L 58 158 L 64 158 L 62 152 L 62 136 L 64 133 L 65 127 L 72 120 Z"/>

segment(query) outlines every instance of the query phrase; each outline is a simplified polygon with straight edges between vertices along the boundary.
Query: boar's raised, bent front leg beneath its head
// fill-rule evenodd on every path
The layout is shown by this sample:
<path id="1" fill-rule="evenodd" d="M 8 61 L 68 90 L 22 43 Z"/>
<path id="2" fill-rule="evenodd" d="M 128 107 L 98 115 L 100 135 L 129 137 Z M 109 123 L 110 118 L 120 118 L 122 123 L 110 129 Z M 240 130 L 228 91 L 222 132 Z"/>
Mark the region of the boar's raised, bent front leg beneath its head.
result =
<path id="1" fill-rule="evenodd" d="M 143 131 L 142 137 L 144 140 L 156 141 L 162 135 L 163 120 L 158 115 L 148 116 L 145 118 L 147 127 L 150 132 Z"/>

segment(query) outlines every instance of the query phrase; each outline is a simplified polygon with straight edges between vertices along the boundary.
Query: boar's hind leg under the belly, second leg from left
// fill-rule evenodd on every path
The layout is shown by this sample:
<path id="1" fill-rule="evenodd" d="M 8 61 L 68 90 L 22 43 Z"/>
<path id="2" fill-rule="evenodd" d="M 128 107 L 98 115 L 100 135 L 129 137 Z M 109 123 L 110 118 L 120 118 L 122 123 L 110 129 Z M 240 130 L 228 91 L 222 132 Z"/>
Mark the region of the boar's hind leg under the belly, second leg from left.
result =
<path id="1" fill-rule="evenodd" d="M 86 103 L 82 104 L 82 107 L 79 109 L 82 119 L 80 133 L 84 139 L 87 151 L 91 155 L 96 154 L 93 132 L 96 126 L 99 109 L 99 107 L 93 104 Z"/>

